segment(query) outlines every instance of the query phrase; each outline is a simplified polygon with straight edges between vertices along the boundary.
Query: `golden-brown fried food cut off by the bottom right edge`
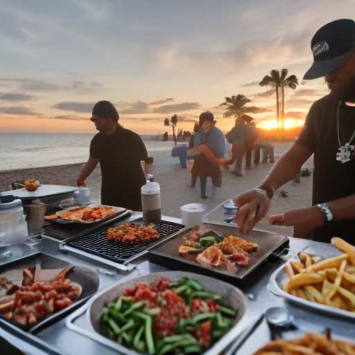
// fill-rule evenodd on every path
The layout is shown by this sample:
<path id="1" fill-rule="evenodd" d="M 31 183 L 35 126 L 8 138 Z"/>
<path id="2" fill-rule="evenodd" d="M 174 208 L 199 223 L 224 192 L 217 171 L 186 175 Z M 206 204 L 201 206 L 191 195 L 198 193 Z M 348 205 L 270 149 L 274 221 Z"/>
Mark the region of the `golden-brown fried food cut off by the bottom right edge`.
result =
<path id="1" fill-rule="evenodd" d="M 354 355 L 355 346 L 332 340 L 327 336 L 306 333 L 302 338 L 276 340 L 266 344 L 254 355 Z"/>

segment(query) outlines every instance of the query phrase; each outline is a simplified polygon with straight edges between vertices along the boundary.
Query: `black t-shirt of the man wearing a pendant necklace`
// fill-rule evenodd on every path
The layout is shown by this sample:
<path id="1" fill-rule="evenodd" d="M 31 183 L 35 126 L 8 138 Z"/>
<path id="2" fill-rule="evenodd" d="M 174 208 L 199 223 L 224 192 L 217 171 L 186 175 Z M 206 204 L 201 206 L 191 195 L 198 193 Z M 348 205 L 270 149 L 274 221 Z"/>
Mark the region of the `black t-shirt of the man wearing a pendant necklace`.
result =
<path id="1" fill-rule="evenodd" d="M 336 160 L 339 153 L 337 110 L 338 101 L 330 94 L 315 101 L 296 141 L 314 152 L 312 205 L 355 193 L 355 160 L 345 163 Z M 345 146 L 355 130 L 355 107 L 341 103 L 339 121 L 340 143 Z M 316 241 L 329 242 L 332 236 L 354 243 L 355 219 L 329 223 L 313 231 Z"/>

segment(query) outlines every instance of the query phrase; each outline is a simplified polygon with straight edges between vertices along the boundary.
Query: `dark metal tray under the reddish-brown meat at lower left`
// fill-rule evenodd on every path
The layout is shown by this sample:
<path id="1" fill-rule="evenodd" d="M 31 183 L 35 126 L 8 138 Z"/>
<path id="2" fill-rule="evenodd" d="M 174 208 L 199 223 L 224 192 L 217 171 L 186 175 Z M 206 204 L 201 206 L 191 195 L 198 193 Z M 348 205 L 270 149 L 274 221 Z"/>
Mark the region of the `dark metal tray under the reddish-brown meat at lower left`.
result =
<path id="1" fill-rule="evenodd" d="M 17 261 L 13 261 L 12 263 L 6 264 L 5 266 L 1 266 L 0 277 L 7 277 L 15 284 L 21 285 L 23 279 L 22 271 L 24 270 L 24 268 L 29 268 L 31 266 L 41 266 L 41 268 L 44 270 L 67 268 L 71 265 L 72 264 L 68 263 L 67 261 L 62 261 L 60 259 L 50 257 L 49 255 L 37 252 L 37 254 L 31 255 L 30 257 L 19 259 Z M 83 287 L 83 291 L 79 299 L 73 304 L 71 304 L 69 307 L 62 309 L 62 311 L 58 311 L 49 315 L 40 322 L 34 324 L 26 324 L 26 326 L 22 326 L 15 320 L 9 320 L 8 318 L 0 317 L 1 320 L 9 322 L 23 331 L 28 331 L 29 333 L 34 334 L 35 332 L 38 332 L 44 329 L 45 327 L 49 327 L 49 325 L 64 318 L 71 311 L 83 304 L 90 296 L 92 296 L 98 290 L 98 273 L 96 272 L 96 270 L 76 267 L 74 270 L 68 273 L 68 278 L 71 279 L 71 281 L 73 282 L 78 282 L 78 284 Z"/>

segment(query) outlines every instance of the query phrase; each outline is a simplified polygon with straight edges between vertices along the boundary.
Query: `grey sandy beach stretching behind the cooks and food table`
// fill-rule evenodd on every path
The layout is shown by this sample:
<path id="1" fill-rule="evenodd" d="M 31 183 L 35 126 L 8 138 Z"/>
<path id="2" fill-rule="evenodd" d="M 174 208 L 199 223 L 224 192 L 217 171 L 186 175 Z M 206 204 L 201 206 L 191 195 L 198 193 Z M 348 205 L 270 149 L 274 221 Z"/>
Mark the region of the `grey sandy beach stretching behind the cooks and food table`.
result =
<path id="1" fill-rule="evenodd" d="M 191 172 L 189 168 L 181 168 L 179 158 L 171 157 L 173 142 L 156 142 L 158 150 L 149 152 L 148 155 L 154 158 L 154 181 L 160 184 L 162 191 L 162 214 L 165 216 L 181 217 L 180 207 L 189 203 L 202 203 L 211 210 L 223 201 L 234 198 L 239 193 L 256 187 L 263 178 L 266 177 L 275 163 L 252 164 L 252 168 L 245 169 L 243 177 L 233 175 L 223 169 L 222 189 L 218 202 L 211 201 L 211 179 L 207 180 L 207 200 L 200 198 L 200 184 L 196 187 L 189 187 L 191 182 Z M 274 143 L 275 161 L 290 148 L 292 143 Z M 35 178 L 42 184 L 58 184 L 66 186 L 76 186 L 76 178 L 80 173 L 83 164 L 68 164 L 59 166 L 45 166 L 41 168 L 30 168 L 15 171 L 0 172 L 0 191 L 8 190 L 8 185 L 17 180 Z M 230 170 L 234 164 L 230 166 Z M 309 170 L 312 170 L 309 166 Z M 86 180 L 89 187 L 93 203 L 101 202 L 101 171 L 96 167 L 92 175 Z M 272 199 L 272 207 L 268 216 L 281 213 L 288 209 L 306 207 L 311 205 L 312 178 L 301 178 L 300 184 L 288 182 L 280 190 L 288 193 L 288 198 L 275 193 Z M 256 228 L 277 232 L 279 234 L 293 235 L 293 227 L 279 227 L 268 225 L 267 218 L 261 220 Z"/>

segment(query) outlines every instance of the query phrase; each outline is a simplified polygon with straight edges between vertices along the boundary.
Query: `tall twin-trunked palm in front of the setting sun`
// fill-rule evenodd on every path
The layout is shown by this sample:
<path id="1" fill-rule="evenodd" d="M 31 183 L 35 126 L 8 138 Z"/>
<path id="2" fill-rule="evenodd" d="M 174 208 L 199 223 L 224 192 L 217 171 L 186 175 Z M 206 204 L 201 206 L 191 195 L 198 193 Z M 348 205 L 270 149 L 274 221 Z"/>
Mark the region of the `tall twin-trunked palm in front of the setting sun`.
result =
<path id="1" fill-rule="evenodd" d="M 288 69 L 282 69 L 282 71 L 272 70 L 270 75 L 263 77 L 263 80 L 259 83 L 260 86 L 270 85 L 271 87 L 276 88 L 276 117 L 277 117 L 277 136 L 279 137 L 279 119 L 280 119 L 280 102 L 279 94 L 281 94 L 281 113 L 282 113 L 282 124 L 281 124 L 281 139 L 283 136 L 284 130 L 284 87 L 291 87 L 295 89 L 298 84 L 298 79 L 295 75 L 288 76 Z"/>

